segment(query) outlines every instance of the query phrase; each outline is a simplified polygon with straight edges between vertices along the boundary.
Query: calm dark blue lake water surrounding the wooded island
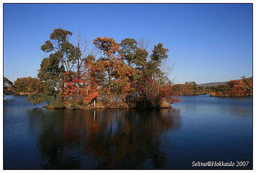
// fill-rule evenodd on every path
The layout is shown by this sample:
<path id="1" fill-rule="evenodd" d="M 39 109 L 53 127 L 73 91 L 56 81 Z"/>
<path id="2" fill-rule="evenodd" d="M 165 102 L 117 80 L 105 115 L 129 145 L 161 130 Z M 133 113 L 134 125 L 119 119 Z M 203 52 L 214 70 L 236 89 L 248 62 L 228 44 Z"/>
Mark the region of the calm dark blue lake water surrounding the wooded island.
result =
<path id="1" fill-rule="evenodd" d="M 182 96 L 173 109 L 95 112 L 25 98 L 4 97 L 4 169 L 252 169 L 252 97 Z"/>

